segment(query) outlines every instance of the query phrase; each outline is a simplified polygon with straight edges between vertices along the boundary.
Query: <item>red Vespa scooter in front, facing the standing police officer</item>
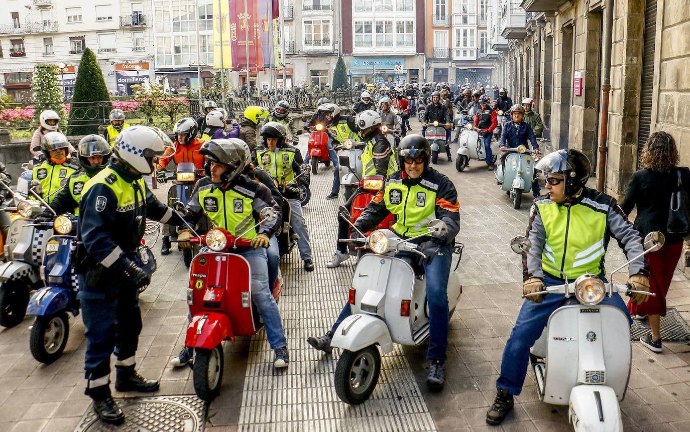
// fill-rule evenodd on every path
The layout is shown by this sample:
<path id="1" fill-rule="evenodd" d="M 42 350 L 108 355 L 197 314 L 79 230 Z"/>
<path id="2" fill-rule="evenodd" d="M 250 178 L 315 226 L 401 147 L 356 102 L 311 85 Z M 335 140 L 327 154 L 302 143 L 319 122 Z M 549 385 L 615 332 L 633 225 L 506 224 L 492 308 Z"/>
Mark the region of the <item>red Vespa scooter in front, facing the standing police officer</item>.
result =
<path id="1" fill-rule="evenodd" d="M 233 250 L 249 246 L 250 240 L 242 236 L 276 217 L 275 209 L 266 207 L 259 223 L 237 237 L 213 228 L 204 236 L 194 232 L 190 239 L 193 245 L 211 249 L 197 254 L 190 265 L 187 304 L 192 320 L 184 342 L 194 349 L 194 390 L 206 402 L 218 395 L 223 380 L 222 342 L 234 344 L 235 336 L 254 336 L 263 325 L 252 302 L 249 263 Z M 276 301 L 282 289 L 279 273 L 273 287 Z"/>

